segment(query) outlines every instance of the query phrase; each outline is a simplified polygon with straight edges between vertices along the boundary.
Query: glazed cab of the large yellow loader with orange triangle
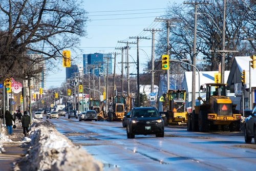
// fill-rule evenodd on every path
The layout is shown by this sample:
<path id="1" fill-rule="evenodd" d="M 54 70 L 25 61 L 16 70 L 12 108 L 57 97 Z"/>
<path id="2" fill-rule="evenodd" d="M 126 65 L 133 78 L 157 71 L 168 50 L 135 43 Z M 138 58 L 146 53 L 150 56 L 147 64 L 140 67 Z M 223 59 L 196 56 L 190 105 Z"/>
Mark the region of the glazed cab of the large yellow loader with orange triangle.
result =
<path id="1" fill-rule="evenodd" d="M 206 101 L 209 101 L 211 96 L 227 97 L 227 84 L 225 83 L 206 84 Z"/>

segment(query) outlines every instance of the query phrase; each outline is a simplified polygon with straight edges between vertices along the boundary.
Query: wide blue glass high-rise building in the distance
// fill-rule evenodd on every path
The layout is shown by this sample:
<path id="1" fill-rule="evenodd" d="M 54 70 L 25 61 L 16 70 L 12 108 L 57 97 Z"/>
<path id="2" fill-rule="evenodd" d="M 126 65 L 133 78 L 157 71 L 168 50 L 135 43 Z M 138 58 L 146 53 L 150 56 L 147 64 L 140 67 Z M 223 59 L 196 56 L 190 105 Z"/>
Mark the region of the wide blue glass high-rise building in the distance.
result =
<path id="1" fill-rule="evenodd" d="M 109 67 L 108 66 L 108 58 L 109 58 Z M 91 66 L 91 67 L 90 67 Z M 92 66 L 95 66 L 94 73 L 96 76 L 99 76 L 99 66 L 100 73 L 108 71 L 109 74 L 112 74 L 112 54 L 102 54 L 102 53 L 94 53 L 94 54 L 83 54 L 83 73 L 88 73 L 88 67 L 90 67 L 90 73 L 92 73 Z"/>

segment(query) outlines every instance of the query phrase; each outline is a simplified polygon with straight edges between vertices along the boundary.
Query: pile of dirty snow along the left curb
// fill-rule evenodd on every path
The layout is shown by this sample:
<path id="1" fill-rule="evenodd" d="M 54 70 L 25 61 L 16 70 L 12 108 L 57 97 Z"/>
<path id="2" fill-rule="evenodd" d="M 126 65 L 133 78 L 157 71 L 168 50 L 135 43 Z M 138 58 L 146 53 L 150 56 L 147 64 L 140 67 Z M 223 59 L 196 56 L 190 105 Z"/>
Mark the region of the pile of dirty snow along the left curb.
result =
<path id="1" fill-rule="evenodd" d="M 102 170 L 101 163 L 60 134 L 49 121 L 33 123 L 29 138 L 28 154 L 14 170 Z"/>

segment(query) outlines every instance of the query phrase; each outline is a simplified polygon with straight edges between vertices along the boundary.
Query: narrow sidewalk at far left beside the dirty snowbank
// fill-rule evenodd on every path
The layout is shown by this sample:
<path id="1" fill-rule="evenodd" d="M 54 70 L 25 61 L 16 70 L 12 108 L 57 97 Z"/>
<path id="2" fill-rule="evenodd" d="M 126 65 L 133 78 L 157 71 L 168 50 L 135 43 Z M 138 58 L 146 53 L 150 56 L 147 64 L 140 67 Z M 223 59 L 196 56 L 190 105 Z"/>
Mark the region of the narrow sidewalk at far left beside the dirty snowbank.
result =
<path id="1" fill-rule="evenodd" d="M 13 129 L 13 134 L 13 136 L 9 136 L 13 142 L 3 144 L 6 152 L 0 154 L 0 171 L 13 170 L 14 163 L 27 154 L 29 146 L 23 145 L 22 142 L 22 138 L 24 138 L 23 127 L 17 125 L 17 128 Z"/>

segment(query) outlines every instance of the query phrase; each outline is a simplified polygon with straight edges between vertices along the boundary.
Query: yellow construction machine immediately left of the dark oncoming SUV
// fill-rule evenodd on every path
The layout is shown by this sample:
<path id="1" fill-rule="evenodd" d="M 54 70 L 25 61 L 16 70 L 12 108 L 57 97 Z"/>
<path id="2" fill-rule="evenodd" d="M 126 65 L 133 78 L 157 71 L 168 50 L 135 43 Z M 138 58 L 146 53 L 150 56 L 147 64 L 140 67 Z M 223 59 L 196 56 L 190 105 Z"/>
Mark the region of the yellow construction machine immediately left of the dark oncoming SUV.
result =
<path id="1" fill-rule="evenodd" d="M 111 97 L 112 104 L 108 109 L 108 121 L 121 121 L 124 114 L 131 111 L 132 98 L 127 96 Z"/>

